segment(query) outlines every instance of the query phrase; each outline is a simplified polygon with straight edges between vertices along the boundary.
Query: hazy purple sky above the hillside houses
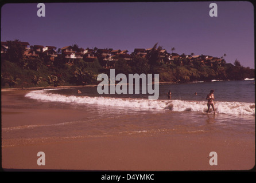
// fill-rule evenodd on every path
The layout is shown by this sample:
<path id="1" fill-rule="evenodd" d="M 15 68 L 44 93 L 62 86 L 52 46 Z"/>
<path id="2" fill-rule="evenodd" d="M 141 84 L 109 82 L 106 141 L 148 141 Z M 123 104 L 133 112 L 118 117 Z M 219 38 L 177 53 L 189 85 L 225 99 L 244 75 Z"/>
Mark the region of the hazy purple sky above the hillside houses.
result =
<path id="1" fill-rule="evenodd" d="M 61 48 L 87 47 L 129 50 L 158 42 L 169 53 L 204 54 L 238 59 L 254 68 L 254 9 L 250 2 L 215 2 L 218 17 L 210 17 L 211 2 L 37 3 L 2 6 L 1 41 Z"/>

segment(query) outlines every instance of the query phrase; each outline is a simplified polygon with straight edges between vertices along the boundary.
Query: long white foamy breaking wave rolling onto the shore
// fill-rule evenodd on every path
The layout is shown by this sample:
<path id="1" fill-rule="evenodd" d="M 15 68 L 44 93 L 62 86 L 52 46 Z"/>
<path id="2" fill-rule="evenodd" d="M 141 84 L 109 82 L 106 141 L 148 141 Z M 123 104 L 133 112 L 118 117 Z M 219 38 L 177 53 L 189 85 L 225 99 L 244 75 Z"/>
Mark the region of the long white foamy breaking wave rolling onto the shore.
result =
<path id="1" fill-rule="evenodd" d="M 64 96 L 48 93 L 47 90 L 35 90 L 26 94 L 26 97 L 41 101 L 65 102 L 69 104 L 91 104 L 136 109 L 169 109 L 176 112 L 205 112 L 206 101 L 181 100 L 148 100 L 138 98 L 110 98 L 88 96 Z M 247 102 L 215 102 L 217 113 L 255 115 L 255 104 Z"/>

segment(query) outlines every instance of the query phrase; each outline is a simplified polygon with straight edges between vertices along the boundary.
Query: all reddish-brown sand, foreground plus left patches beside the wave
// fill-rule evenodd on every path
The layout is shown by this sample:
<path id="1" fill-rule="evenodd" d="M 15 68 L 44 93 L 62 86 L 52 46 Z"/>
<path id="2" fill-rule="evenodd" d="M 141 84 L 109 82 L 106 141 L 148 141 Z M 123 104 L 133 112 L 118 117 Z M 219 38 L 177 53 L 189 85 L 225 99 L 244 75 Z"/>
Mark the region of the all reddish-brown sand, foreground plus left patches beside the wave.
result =
<path id="1" fill-rule="evenodd" d="M 79 110 L 12 108 L 18 102 L 15 98 L 26 92 L 2 92 L 2 106 L 9 106 L 2 107 L 2 128 L 55 124 L 82 116 Z M 37 165 L 38 152 L 45 153 L 45 166 Z M 210 165 L 210 152 L 218 154 L 218 165 Z M 255 141 L 243 137 L 137 134 L 2 146 L 4 170 L 250 170 L 254 165 Z"/>

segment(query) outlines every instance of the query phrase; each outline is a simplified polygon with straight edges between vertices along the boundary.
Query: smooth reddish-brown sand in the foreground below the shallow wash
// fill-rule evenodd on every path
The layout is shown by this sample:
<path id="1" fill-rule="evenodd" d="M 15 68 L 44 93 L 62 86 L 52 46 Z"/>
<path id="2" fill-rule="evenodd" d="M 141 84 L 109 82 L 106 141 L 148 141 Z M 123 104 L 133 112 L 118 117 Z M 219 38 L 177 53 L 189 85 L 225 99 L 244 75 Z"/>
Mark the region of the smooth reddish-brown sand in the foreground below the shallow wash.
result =
<path id="1" fill-rule="evenodd" d="M 250 170 L 251 142 L 189 137 L 88 138 L 52 144 L 2 149 L 4 169 L 55 170 Z M 238 147 L 239 145 L 239 147 Z M 238 148 L 242 148 L 242 152 Z M 218 152 L 218 165 L 209 164 L 209 153 Z M 45 166 L 37 165 L 37 152 L 45 153 Z M 236 153 L 239 152 L 239 153 Z M 192 155 L 193 154 L 193 155 Z M 196 154 L 196 155 L 195 155 Z"/>

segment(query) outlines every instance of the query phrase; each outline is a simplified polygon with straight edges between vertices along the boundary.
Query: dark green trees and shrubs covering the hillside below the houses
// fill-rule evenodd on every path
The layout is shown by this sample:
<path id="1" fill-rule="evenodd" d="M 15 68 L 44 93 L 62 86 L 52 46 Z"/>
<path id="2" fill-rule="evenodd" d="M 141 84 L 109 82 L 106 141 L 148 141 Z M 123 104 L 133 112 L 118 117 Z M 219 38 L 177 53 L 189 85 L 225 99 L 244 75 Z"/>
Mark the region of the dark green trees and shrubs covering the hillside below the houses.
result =
<path id="1" fill-rule="evenodd" d="M 7 41 L 9 49 L 1 54 L 1 87 L 45 87 L 60 85 L 90 85 L 97 84 L 100 73 L 110 74 L 110 69 L 104 67 L 104 61 L 97 57 L 92 62 L 83 59 L 65 58 L 59 54 L 51 60 L 49 55 L 41 54 L 39 57 L 24 57 L 24 47 L 20 41 Z M 79 50 L 77 45 L 73 45 Z M 160 82 L 193 82 L 219 80 L 238 80 L 254 78 L 254 69 L 243 67 L 238 60 L 231 63 L 214 62 L 204 65 L 201 61 L 186 57 L 162 57 L 162 47 L 155 44 L 145 57 L 131 54 L 130 60 L 119 57 L 114 63 L 115 74 L 159 73 Z M 172 51 L 175 50 L 174 47 Z M 60 52 L 60 51 L 59 51 Z M 193 53 L 192 53 L 193 54 Z M 191 54 L 191 55 L 192 55 Z M 185 56 L 185 54 L 184 54 Z M 226 54 L 224 54 L 226 56 Z M 224 59 L 223 59 L 224 61 Z"/>

